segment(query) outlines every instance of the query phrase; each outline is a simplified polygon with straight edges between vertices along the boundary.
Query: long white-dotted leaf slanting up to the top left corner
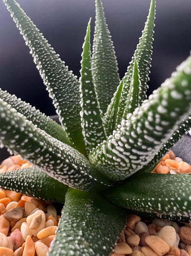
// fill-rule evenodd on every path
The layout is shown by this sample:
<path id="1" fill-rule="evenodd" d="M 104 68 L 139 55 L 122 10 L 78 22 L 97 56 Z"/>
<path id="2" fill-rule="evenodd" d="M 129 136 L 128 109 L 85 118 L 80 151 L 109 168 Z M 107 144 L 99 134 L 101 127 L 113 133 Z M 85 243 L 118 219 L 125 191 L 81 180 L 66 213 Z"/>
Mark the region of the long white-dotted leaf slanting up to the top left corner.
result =
<path id="1" fill-rule="evenodd" d="M 71 142 L 84 153 L 84 141 L 80 125 L 79 81 L 55 53 L 44 36 L 27 17 L 15 0 L 3 0 L 20 30 L 39 73 L 47 86 L 56 112 Z M 64 99 L 64 100 L 63 100 Z"/>

